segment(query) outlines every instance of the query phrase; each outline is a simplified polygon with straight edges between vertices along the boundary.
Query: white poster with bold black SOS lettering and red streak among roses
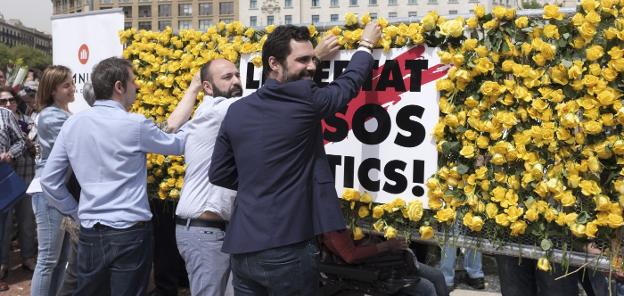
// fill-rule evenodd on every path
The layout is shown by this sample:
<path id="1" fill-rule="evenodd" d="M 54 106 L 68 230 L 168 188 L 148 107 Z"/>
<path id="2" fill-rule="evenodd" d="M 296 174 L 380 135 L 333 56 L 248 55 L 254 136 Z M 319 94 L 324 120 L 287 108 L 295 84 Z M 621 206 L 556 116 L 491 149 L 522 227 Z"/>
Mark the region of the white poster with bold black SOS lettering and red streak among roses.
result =
<path id="1" fill-rule="evenodd" d="M 325 151 L 336 189 L 367 191 L 376 202 L 419 198 L 427 205 L 427 178 L 437 170 L 433 129 L 438 122 L 435 80 L 446 75 L 436 48 L 418 46 L 375 50 L 376 66 L 347 108 L 323 122 Z M 323 62 L 315 80 L 331 82 L 355 51 L 341 51 Z M 241 58 L 245 95 L 261 84 L 262 69 Z"/>

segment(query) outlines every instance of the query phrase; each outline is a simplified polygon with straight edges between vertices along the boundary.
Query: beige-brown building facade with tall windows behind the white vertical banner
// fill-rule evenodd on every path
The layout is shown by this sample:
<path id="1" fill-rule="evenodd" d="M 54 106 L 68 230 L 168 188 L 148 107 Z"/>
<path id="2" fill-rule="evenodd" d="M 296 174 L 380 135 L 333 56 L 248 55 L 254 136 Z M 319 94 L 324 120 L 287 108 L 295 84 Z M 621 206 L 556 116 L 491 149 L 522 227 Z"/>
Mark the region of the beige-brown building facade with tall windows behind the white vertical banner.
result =
<path id="1" fill-rule="evenodd" d="M 122 8 L 125 27 L 162 31 L 205 31 L 213 24 L 238 19 L 238 0 L 91 0 L 93 10 Z M 89 10 L 89 0 L 52 0 L 54 14 Z"/>

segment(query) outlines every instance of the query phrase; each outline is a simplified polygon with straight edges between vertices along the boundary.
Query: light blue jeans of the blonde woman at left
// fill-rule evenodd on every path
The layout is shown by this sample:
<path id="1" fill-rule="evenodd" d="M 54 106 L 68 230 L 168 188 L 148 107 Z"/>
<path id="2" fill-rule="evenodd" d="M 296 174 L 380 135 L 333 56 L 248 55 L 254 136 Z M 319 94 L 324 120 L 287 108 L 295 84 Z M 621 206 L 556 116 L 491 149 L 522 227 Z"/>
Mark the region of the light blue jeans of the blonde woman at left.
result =
<path id="1" fill-rule="evenodd" d="M 32 207 L 37 222 L 39 256 L 33 273 L 31 295 L 56 295 L 65 274 L 69 254 L 69 235 L 61 229 L 63 214 L 48 205 L 43 193 L 35 193 Z"/>

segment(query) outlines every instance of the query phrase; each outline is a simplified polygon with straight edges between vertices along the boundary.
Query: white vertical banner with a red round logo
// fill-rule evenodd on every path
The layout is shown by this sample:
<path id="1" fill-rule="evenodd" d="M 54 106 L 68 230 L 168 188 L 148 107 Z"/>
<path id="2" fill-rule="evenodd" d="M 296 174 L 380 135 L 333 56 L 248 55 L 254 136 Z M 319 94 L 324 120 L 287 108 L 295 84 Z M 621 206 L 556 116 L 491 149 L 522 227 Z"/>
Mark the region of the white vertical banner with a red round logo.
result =
<path id="1" fill-rule="evenodd" d="M 112 56 L 121 57 L 123 46 L 118 33 L 123 29 L 120 8 L 52 17 L 52 61 L 74 74 L 75 101 L 69 104 L 72 112 L 89 107 L 82 89 L 91 81 L 93 66 Z"/>

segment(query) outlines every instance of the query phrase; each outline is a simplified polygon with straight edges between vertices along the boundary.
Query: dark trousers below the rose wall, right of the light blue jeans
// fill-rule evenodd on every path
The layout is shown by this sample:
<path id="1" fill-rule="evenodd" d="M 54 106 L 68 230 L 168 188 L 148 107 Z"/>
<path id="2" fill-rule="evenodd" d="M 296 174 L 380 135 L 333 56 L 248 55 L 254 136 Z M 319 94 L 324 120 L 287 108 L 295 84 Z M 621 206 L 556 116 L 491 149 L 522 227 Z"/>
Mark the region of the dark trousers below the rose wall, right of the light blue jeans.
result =
<path id="1" fill-rule="evenodd" d="M 559 264 L 551 264 L 552 272 L 537 269 L 537 260 L 496 256 L 503 296 L 569 296 L 578 295 L 578 277 L 565 274 Z"/>

